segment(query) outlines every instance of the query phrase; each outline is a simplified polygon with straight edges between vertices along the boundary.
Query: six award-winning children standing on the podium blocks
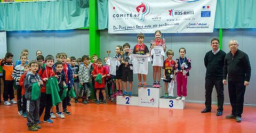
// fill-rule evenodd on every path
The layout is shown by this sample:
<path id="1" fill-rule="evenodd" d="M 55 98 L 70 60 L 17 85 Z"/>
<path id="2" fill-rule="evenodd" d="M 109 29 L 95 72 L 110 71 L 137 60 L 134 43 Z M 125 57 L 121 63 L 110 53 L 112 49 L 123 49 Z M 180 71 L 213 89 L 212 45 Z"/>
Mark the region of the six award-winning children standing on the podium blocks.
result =
<path id="1" fill-rule="evenodd" d="M 123 96 L 132 96 L 132 81 L 133 81 L 133 69 L 137 67 L 137 69 L 146 69 L 147 64 L 145 67 L 138 68 L 135 66 L 137 64 L 134 63 L 133 59 L 131 58 L 132 54 L 136 55 L 144 55 L 144 56 L 151 56 L 153 58 L 153 87 L 160 88 L 160 79 L 161 79 L 161 69 L 163 69 L 163 81 L 165 82 L 165 98 L 173 98 L 173 87 L 174 87 L 174 79 L 177 76 L 177 95 L 176 99 L 185 100 L 187 96 L 187 76 L 189 76 L 189 70 L 191 69 L 191 61 L 188 59 L 186 54 L 186 49 L 181 47 L 179 49 L 180 56 L 173 60 L 174 52 L 169 49 L 166 52 L 166 45 L 165 40 L 161 39 L 162 33 L 161 31 L 157 30 L 155 32 L 155 39 L 150 41 L 150 49 L 143 43 L 144 34 L 140 33 L 137 35 L 138 43 L 134 46 L 133 51 L 130 49 L 130 45 L 125 43 L 122 46 L 116 46 L 115 52 L 116 55 L 114 58 L 119 61 L 118 63 L 107 63 L 111 65 L 112 68 L 115 68 L 117 65 L 117 69 L 115 72 L 111 73 L 111 78 L 116 79 L 115 84 L 117 88 L 117 92 L 113 94 L 114 96 L 123 95 Z M 124 53 L 121 53 L 124 51 Z M 166 52 L 167 59 L 164 60 L 164 53 Z M 110 58 L 111 59 L 111 58 Z M 142 59 L 143 60 L 143 59 Z M 111 59 L 110 62 L 116 62 L 116 60 Z M 115 75 L 113 75 L 113 73 Z M 140 73 L 136 70 L 135 73 L 138 73 L 138 80 L 139 85 L 138 88 L 146 88 L 147 87 L 147 74 Z M 146 72 L 147 73 L 147 72 Z M 142 84 L 143 79 L 143 84 Z M 157 79 L 157 80 L 156 80 Z M 122 91 L 122 81 L 124 83 L 124 92 Z M 129 92 L 127 93 L 127 81 L 129 81 Z M 169 84 L 169 87 L 168 87 Z M 168 88 L 168 90 L 167 90 Z"/>

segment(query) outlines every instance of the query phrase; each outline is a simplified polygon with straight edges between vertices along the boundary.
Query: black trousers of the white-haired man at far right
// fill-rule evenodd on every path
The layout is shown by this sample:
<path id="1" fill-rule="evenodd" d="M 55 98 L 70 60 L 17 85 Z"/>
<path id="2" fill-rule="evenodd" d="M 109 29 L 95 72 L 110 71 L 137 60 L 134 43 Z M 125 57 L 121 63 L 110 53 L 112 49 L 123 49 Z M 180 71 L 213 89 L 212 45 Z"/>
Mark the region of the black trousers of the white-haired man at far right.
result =
<path id="1" fill-rule="evenodd" d="M 228 94 L 232 106 L 232 114 L 242 117 L 244 109 L 244 82 L 228 82 Z"/>

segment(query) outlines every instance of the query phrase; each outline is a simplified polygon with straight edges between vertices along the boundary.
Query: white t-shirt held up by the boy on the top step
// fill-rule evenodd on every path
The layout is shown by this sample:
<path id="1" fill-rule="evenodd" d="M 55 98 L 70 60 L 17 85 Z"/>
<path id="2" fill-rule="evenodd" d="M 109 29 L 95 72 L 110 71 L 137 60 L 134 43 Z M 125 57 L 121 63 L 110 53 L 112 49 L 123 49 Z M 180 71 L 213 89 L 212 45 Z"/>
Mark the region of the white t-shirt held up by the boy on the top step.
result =
<path id="1" fill-rule="evenodd" d="M 132 54 L 131 60 L 133 65 L 133 73 L 148 74 L 148 62 L 152 61 L 151 56 Z"/>

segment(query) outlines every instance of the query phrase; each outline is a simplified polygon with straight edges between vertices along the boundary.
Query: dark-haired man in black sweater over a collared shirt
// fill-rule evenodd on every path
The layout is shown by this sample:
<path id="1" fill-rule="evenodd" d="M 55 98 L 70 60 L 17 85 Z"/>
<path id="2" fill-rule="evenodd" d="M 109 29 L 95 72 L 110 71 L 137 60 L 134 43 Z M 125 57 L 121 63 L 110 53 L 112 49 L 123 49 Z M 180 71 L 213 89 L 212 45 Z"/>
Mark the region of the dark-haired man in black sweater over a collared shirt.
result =
<path id="1" fill-rule="evenodd" d="M 219 48 L 219 39 L 211 40 L 212 50 L 207 52 L 204 57 L 204 65 L 206 68 L 205 74 L 205 109 L 201 113 L 211 112 L 212 104 L 212 89 L 215 86 L 218 97 L 217 116 L 222 115 L 223 111 L 223 65 L 226 53 Z"/>

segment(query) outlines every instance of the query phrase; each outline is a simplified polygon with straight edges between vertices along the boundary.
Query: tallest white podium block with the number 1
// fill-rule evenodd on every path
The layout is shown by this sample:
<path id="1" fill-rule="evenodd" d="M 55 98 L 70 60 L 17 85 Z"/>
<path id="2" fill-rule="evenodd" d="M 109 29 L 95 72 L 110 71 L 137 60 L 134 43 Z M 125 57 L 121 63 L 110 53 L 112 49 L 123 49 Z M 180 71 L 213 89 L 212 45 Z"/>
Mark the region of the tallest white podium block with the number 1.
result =
<path id="1" fill-rule="evenodd" d="M 139 88 L 138 106 L 159 107 L 162 88 Z"/>

